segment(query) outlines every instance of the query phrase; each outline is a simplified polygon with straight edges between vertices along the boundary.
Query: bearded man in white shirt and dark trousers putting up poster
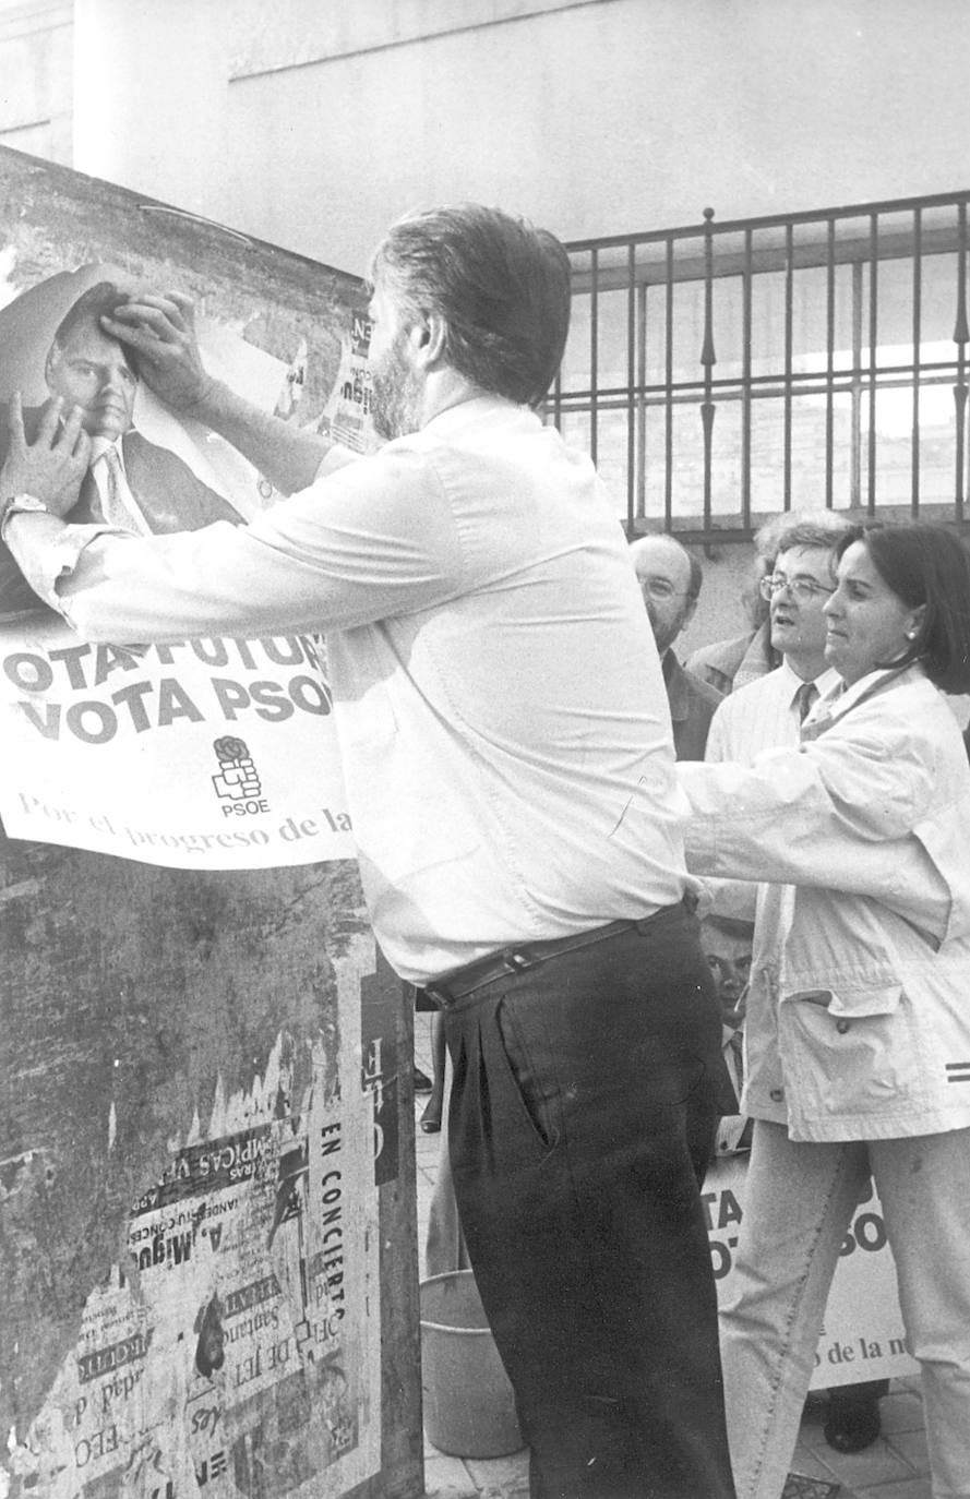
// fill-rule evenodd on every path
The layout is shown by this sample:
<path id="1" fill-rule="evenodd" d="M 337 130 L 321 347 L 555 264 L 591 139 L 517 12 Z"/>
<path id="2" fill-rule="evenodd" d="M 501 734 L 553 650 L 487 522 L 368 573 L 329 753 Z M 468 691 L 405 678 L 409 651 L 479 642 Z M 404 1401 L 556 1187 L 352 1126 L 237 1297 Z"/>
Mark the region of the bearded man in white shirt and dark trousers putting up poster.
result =
<path id="1" fill-rule="evenodd" d="M 531 409 L 568 256 L 465 205 L 394 225 L 372 280 L 378 454 L 253 411 L 205 375 L 186 298 L 142 295 L 106 331 L 289 498 L 190 535 L 64 526 L 75 412 L 15 430 L 0 535 L 90 640 L 327 633 L 373 928 L 445 1015 L 456 1193 L 531 1493 L 730 1499 L 691 1156 L 726 1079 L 670 715 L 615 508 Z"/>

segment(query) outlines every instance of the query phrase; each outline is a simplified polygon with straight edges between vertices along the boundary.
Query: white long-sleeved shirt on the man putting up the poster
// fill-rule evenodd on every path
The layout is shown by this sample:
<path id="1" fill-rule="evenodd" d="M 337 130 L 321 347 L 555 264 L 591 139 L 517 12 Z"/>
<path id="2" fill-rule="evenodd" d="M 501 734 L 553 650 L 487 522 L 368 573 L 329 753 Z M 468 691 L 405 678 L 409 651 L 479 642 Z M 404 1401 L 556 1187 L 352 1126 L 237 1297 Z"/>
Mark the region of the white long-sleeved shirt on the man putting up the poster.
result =
<path id="1" fill-rule="evenodd" d="M 24 520 L 12 550 L 87 640 L 327 631 L 364 893 L 403 977 L 676 904 L 667 696 L 589 460 L 498 397 L 345 459 L 247 526 L 31 544 Z"/>

